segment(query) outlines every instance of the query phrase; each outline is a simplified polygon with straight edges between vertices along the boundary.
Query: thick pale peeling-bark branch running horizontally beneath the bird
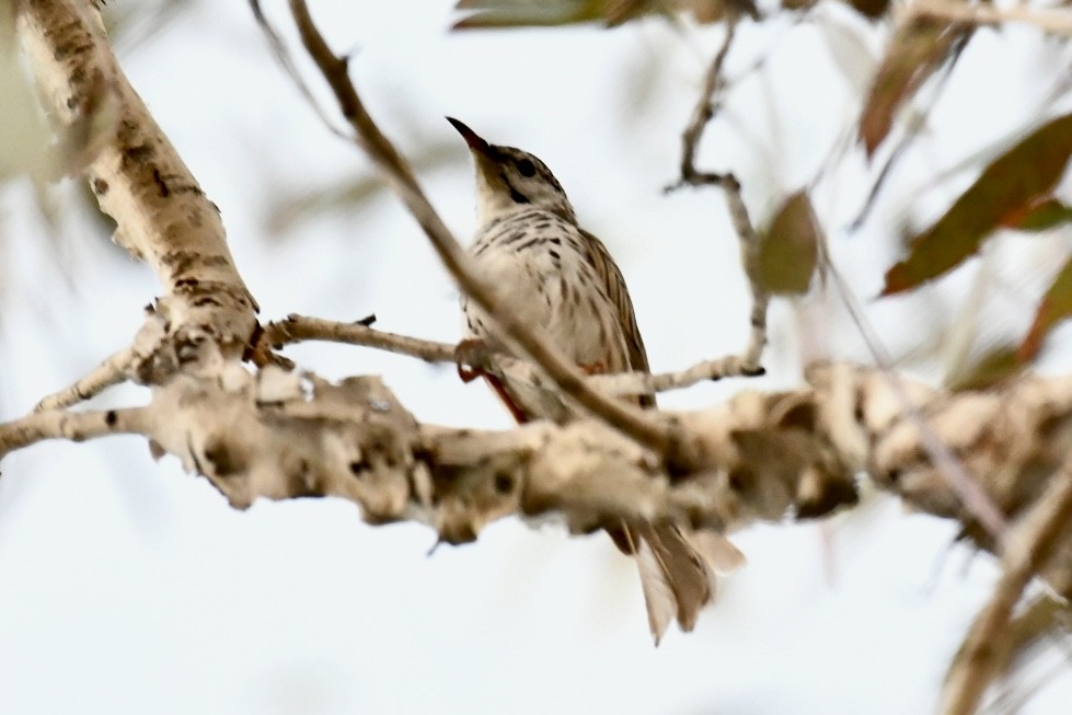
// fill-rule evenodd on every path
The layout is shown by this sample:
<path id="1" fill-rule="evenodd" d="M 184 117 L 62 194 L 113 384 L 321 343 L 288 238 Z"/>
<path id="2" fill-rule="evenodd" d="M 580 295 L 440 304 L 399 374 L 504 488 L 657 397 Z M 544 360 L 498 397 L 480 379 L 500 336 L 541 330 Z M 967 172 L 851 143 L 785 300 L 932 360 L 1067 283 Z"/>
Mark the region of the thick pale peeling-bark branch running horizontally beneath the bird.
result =
<path id="1" fill-rule="evenodd" d="M 371 521 L 419 519 L 451 542 L 507 514 L 549 510 L 575 531 L 615 519 L 731 530 L 787 514 L 820 517 L 854 504 L 856 475 L 866 471 L 994 549 L 929 462 L 881 371 L 837 365 L 809 374 L 809 389 L 745 392 L 701 412 L 660 413 L 712 455 L 692 471 L 668 471 L 657 453 L 598 419 L 502 433 L 419 425 L 374 378 L 333 385 L 270 367 L 253 376 L 233 362 L 157 388 L 142 412 L 51 411 L 2 425 L 0 455 L 50 437 L 138 431 L 237 507 L 262 496 L 336 495 L 357 501 Z M 1072 446 L 1072 379 L 1024 379 L 992 394 L 908 381 L 906 390 L 927 428 L 1011 517 L 1048 500 L 1047 468 L 1057 469 Z M 1068 572 L 1069 554 L 1059 556 L 1044 574 Z"/>

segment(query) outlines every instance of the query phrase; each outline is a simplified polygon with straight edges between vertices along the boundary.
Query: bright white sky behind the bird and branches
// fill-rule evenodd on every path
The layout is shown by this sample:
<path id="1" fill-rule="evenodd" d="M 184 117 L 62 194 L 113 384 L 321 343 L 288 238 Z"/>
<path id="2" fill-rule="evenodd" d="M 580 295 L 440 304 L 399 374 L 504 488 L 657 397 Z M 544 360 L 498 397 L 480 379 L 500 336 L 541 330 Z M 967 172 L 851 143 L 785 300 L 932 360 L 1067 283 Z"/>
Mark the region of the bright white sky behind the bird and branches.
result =
<path id="1" fill-rule="evenodd" d="M 289 26 L 284 3 L 265 4 Z M 447 114 L 552 166 L 622 264 L 656 370 L 739 349 L 746 292 L 721 195 L 660 193 L 719 31 L 649 21 L 451 35 L 450 7 L 311 2 L 334 47 L 355 50 L 358 89 L 389 136 L 407 152 L 450 148 L 449 161 L 420 176 L 448 224 L 470 234 L 473 196 Z M 840 8 L 818 14 L 830 32 L 856 37 L 838 44 L 850 69 L 815 24 L 746 25 L 730 76 L 764 55 L 768 64 L 735 88 L 701 154 L 704 166 L 737 173 L 760 220 L 816 173 L 856 111 L 846 82 L 866 77 L 879 46 L 878 33 Z M 973 174 L 934 176 L 1038 116 L 1050 89 L 1044 70 L 1068 61 L 1056 45 L 1039 50 L 1025 28 L 981 32 L 863 230 L 845 227 L 875 171 L 852 153 L 820 184 L 816 206 L 834 253 L 895 353 L 933 349 L 933 327 L 970 323 L 965 295 L 977 272 L 911 299 L 871 301 L 892 239 L 906 221 L 937 216 Z M 219 205 L 265 320 L 374 312 L 384 330 L 457 339 L 457 291 L 390 195 L 267 235 L 267 207 L 281 196 L 343 185 L 369 165 L 302 104 L 244 2 L 195 3 L 160 35 L 120 46 L 120 59 Z M 27 185 L 0 193 L 4 419 L 124 345 L 158 292 L 146 267 L 96 240 L 71 196 L 70 186 L 56 192 L 54 243 L 42 238 Z M 983 267 L 998 277 L 984 337 L 1024 330 L 1046 270 L 1064 255 L 1060 240 L 988 251 Z M 843 313 L 832 299 L 779 304 L 771 376 L 748 387 L 796 384 L 802 343 L 810 356 L 865 358 Z M 343 346 L 288 355 L 327 377 L 381 373 L 425 420 L 508 425 L 482 385 L 460 384 L 450 368 Z M 703 406 L 741 387 L 661 400 Z M 143 399 L 119 389 L 93 404 Z M 725 580 L 718 607 L 693 634 L 671 632 L 654 649 L 632 564 L 601 535 L 508 520 L 428 557 L 430 530 L 370 528 L 348 503 L 234 511 L 174 459 L 153 463 L 134 438 L 39 445 L 5 458 L 2 472 L 3 713 L 929 712 L 995 575 L 990 557 L 950 549 L 950 524 L 873 499 L 827 527 L 739 533 L 749 564 Z M 1014 685 L 1054 662 L 1041 658 Z M 1024 712 L 1067 712 L 1068 674 L 1047 682 Z"/>

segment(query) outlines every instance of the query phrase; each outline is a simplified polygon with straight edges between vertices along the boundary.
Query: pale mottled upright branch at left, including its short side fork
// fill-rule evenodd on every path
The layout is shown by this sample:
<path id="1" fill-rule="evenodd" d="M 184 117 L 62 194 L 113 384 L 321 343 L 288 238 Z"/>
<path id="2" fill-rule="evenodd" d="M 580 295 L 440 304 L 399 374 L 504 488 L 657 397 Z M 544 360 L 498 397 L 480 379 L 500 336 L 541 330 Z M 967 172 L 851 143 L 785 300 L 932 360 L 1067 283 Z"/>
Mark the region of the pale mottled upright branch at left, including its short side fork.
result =
<path id="1" fill-rule="evenodd" d="M 69 163 L 84 171 L 101 209 L 115 219 L 116 243 L 152 266 L 163 285 L 142 332 L 170 343 L 158 360 L 160 351 L 138 347 L 146 339 L 139 334 L 134 348 L 46 404 L 70 404 L 123 379 L 164 382 L 183 362 L 241 357 L 256 325 L 256 301 L 234 267 L 219 210 L 127 82 L 95 7 L 80 0 L 14 7 L 58 143 L 70 149 Z M 135 356 L 142 359 L 127 359 Z"/>

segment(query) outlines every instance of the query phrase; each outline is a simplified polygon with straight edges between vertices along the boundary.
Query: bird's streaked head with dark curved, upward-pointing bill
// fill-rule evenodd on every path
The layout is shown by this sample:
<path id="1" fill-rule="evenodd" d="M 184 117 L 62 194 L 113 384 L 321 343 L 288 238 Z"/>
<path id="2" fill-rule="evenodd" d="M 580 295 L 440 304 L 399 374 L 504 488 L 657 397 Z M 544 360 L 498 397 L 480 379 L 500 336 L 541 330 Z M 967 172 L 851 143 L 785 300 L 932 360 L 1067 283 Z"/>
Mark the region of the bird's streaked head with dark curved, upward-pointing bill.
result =
<path id="1" fill-rule="evenodd" d="M 514 147 L 489 145 L 458 119 L 447 117 L 469 145 L 476 163 L 476 220 L 481 226 L 505 214 L 541 208 L 576 222 L 566 193 L 542 161 Z"/>

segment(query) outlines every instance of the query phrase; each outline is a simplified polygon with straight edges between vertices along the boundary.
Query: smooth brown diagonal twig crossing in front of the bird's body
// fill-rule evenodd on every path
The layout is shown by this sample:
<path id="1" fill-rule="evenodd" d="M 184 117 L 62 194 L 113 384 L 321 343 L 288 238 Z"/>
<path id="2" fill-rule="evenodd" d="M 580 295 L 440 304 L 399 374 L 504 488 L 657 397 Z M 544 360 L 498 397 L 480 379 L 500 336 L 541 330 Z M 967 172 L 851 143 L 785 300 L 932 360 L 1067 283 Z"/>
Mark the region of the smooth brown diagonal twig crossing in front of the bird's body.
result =
<path id="1" fill-rule="evenodd" d="M 462 291 L 492 316 L 510 343 L 517 345 L 523 354 L 539 365 L 554 383 L 578 404 L 668 459 L 675 461 L 687 459 L 679 453 L 682 446 L 679 443 L 676 429 L 646 415 L 637 407 L 600 394 L 588 384 L 580 370 L 564 359 L 542 333 L 532 331 L 516 313 L 503 309 L 503 302 L 497 300 L 494 287 L 476 274 L 470 256 L 420 191 L 408 162 L 383 136 L 365 109 L 347 73 L 346 59 L 335 56 L 324 42 L 302 0 L 290 0 L 290 10 L 302 44 L 334 92 L 343 116 L 354 129 L 354 140 L 379 166 L 388 183 L 424 229 L 439 258 Z M 266 21 L 262 22 L 266 23 Z"/>

